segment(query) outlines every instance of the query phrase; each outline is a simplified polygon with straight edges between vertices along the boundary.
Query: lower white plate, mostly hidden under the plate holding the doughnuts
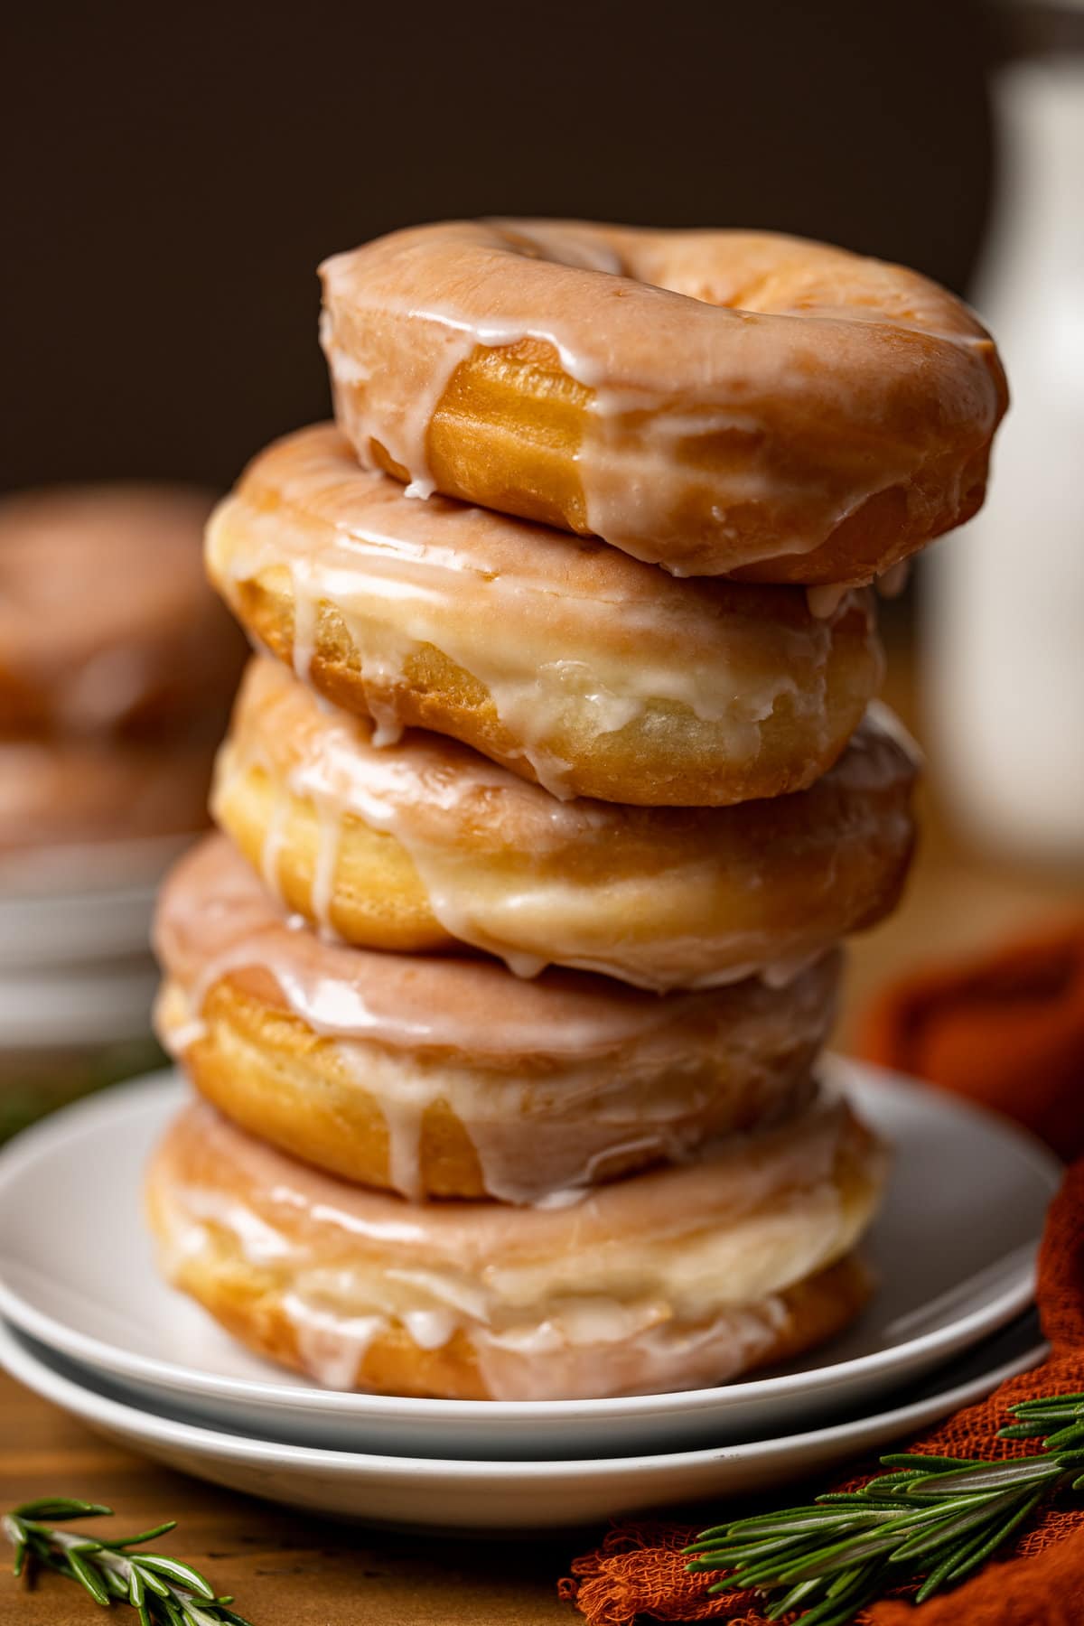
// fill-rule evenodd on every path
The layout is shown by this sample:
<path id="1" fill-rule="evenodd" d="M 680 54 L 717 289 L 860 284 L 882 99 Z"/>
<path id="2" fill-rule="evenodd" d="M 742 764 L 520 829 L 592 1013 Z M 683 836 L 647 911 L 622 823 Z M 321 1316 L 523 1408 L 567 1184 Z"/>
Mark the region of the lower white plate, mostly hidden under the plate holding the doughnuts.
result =
<path id="1" fill-rule="evenodd" d="M 1025 1317 L 1024 1325 L 957 1361 L 951 1387 L 928 1380 L 904 1405 L 876 1416 L 744 1446 L 592 1462 L 375 1457 L 195 1428 L 115 1400 L 106 1380 L 41 1351 L 2 1322 L 0 1366 L 96 1433 L 234 1491 L 369 1524 L 543 1530 L 762 1491 L 881 1450 L 1042 1359 L 1045 1346 L 1035 1345 L 1029 1324 Z"/>

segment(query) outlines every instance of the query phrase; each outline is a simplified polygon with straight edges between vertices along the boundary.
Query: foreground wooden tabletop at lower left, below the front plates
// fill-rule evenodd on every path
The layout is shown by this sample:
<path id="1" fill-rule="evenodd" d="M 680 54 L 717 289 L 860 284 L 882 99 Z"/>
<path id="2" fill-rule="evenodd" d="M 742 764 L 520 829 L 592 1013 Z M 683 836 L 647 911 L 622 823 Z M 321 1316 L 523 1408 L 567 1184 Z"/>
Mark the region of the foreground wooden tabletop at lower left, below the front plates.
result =
<path id="1" fill-rule="evenodd" d="M 252 1626 L 541 1626 L 577 1621 L 556 1579 L 590 1537 L 562 1541 L 440 1541 L 309 1519 L 236 1491 L 158 1468 L 98 1439 L 0 1374 L 0 1507 L 67 1494 L 114 1507 L 146 1530 L 179 1528 L 156 1550 L 185 1558 L 219 1592 L 232 1592 Z M 7 1553 L 0 1546 L 0 1563 Z M 0 1574 L 2 1626 L 94 1626 L 81 1587 L 46 1574 L 28 1590 Z M 125 1611 L 120 1619 L 135 1623 Z"/>

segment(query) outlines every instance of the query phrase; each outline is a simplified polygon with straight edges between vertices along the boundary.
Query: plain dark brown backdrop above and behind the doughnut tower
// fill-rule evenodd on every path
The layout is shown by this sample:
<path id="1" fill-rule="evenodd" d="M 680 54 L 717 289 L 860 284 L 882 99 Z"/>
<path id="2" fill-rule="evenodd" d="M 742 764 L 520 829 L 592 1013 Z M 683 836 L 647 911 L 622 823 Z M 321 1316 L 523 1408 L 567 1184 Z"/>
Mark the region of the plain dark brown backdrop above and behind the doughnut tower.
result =
<path id="1" fill-rule="evenodd" d="M 952 0 L 65 0 L 3 59 L 8 488 L 229 481 L 327 410 L 317 262 L 393 226 L 775 226 L 962 288 L 990 190 Z"/>

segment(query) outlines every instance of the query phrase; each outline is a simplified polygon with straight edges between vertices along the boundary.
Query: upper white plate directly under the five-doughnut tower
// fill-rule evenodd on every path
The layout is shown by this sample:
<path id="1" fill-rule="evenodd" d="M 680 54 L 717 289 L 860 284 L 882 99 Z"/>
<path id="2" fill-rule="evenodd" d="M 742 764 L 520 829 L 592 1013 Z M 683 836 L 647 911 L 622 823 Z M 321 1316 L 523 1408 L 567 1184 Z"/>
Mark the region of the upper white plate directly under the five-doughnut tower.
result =
<path id="1" fill-rule="evenodd" d="M 895 1145 L 868 1252 L 881 1289 L 843 1337 L 769 1377 L 619 1400 L 455 1402 L 320 1390 L 249 1354 L 159 1281 L 146 1154 L 184 1099 L 158 1075 L 68 1107 L 0 1154 L 0 1312 L 127 1385 L 137 1405 L 309 1446 L 423 1457 L 621 1455 L 756 1439 L 918 1379 L 1017 1315 L 1058 1180 L 1009 1124 L 943 1093 L 834 1063 Z"/>

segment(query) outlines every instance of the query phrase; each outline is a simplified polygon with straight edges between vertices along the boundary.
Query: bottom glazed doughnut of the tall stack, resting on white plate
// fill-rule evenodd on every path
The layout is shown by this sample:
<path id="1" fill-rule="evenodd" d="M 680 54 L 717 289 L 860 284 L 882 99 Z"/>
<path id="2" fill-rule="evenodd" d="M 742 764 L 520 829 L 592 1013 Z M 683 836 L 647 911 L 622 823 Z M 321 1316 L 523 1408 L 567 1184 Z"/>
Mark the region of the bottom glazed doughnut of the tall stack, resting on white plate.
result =
<path id="1" fill-rule="evenodd" d="M 566 1208 L 346 1185 L 206 1104 L 148 1210 L 169 1280 L 250 1348 L 338 1389 L 548 1400 L 725 1382 L 842 1327 L 884 1154 L 840 1102 Z"/>

